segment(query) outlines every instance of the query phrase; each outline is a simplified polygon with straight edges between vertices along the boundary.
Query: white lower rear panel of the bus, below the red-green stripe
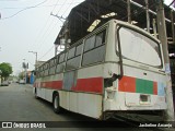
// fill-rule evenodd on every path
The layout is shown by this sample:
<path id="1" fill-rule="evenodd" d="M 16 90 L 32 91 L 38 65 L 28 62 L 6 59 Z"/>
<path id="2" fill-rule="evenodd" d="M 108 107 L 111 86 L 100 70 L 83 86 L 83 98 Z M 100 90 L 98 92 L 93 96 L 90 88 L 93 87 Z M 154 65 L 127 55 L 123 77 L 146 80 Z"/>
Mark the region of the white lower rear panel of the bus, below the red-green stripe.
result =
<path id="1" fill-rule="evenodd" d="M 145 97 L 145 98 L 144 98 Z M 145 100 L 148 97 L 148 100 Z M 113 97 L 104 98 L 106 110 L 165 110 L 165 96 L 115 92 Z"/>

